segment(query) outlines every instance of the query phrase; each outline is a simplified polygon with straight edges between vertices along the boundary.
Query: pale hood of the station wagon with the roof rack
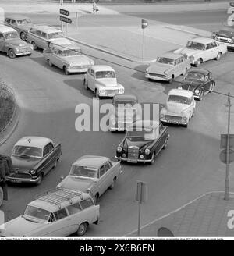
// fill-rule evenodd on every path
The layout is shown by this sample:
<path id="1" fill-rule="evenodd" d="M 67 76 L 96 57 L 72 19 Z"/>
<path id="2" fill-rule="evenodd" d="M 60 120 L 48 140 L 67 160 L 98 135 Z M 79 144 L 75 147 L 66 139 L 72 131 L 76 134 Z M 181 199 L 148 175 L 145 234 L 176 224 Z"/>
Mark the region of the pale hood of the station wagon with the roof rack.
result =
<path id="1" fill-rule="evenodd" d="M 34 219 L 24 219 L 23 216 L 19 216 L 16 219 L 12 219 L 5 223 L 5 229 L 2 232 L 3 236 L 30 236 L 35 229 L 44 225 L 44 222 L 37 222 Z"/>

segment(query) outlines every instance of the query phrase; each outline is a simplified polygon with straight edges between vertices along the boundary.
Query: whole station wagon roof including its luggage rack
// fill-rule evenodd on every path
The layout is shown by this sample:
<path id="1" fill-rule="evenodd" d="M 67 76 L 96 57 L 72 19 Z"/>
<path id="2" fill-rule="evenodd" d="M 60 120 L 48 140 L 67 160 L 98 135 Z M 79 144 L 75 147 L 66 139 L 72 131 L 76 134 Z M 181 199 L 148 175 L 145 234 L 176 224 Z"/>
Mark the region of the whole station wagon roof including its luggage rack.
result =
<path id="1" fill-rule="evenodd" d="M 69 190 L 65 188 L 54 188 L 39 194 L 37 199 L 28 205 L 42 208 L 49 212 L 56 212 L 61 208 L 66 208 L 78 201 L 90 198 L 90 195 L 82 191 Z"/>

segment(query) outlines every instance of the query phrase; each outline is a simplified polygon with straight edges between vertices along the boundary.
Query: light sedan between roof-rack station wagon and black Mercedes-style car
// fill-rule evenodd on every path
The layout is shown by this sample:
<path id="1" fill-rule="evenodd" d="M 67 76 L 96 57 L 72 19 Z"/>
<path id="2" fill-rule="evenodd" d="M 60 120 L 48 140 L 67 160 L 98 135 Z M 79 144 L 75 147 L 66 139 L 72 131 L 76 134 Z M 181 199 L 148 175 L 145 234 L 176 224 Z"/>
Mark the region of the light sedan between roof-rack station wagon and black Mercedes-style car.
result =
<path id="1" fill-rule="evenodd" d="M 60 188 L 80 190 L 94 198 L 95 204 L 104 192 L 115 187 L 122 168 L 119 162 L 97 155 L 84 155 L 73 163 Z"/>

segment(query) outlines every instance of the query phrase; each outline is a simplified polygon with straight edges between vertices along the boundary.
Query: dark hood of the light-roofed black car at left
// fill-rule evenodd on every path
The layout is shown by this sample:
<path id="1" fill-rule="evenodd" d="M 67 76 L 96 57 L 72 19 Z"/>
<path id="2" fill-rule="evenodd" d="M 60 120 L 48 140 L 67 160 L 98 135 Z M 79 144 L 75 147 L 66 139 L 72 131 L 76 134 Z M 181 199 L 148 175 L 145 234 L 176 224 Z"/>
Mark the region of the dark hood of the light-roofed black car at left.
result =
<path id="1" fill-rule="evenodd" d="M 29 170 L 33 169 L 35 165 L 37 165 L 41 158 L 22 158 L 20 156 L 11 156 L 12 158 L 12 165 L 14 168 L 22 169 L 22 170 Z"/>

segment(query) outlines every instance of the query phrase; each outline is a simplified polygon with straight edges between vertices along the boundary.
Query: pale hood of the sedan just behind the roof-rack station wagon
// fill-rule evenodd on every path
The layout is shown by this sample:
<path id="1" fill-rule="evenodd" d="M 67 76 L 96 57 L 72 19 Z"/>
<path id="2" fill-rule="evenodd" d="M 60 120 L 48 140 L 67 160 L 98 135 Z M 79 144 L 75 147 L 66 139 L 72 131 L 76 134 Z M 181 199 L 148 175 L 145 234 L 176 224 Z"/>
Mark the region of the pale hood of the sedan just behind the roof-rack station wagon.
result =
<path id="1" fill-rule="evenodd" d="M 92 183 L 94 183 L 94 179 L 83 179 L 79 176 L 66 176 L 66 178 L 58 184 L 58 187 L 67 188 L 69 190 L 85 191 Z"/>

